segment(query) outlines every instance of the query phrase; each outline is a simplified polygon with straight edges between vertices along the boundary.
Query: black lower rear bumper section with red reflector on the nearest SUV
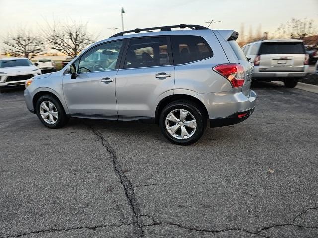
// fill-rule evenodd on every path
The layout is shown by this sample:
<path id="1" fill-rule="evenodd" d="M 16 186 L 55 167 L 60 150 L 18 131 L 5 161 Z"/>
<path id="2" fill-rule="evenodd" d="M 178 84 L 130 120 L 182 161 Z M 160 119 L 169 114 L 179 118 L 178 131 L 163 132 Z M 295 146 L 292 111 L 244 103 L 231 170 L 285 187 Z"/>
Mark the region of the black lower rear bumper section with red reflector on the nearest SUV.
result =
<path id="1" fill-rule="evenodd" d="M 244 112 L 237 112 L 225 118 L 210 118 L 210 127 L 234 125 L 246 120 L 254 112 L 255 107 Z"/>

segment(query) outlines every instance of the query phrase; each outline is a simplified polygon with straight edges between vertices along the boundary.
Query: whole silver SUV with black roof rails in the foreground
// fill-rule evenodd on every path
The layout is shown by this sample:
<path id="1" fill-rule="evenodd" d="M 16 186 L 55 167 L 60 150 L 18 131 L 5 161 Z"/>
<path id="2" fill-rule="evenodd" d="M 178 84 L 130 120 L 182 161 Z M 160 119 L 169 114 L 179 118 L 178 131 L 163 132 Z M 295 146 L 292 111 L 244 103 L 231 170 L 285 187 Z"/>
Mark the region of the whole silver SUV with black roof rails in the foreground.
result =
<path id="1" fill-rule="evenodd" d="M 139 120 L 159 124 L 173 143 L 192 144 L 208 119 L 211 127 L 232 125 L 255 108 L 253 67 L 238 36 L 185 24 L 121 32 L 61 71 L 28 80 L 26 104 L 49 128 L 70 117 Z"/>

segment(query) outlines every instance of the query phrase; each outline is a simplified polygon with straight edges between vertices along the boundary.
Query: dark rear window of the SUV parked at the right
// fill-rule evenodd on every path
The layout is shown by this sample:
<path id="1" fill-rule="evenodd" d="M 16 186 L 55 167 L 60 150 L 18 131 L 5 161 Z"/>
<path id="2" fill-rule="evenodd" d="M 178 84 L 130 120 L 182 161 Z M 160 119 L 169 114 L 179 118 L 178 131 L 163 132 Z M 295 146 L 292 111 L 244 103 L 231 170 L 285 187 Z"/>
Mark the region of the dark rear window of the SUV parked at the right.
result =
<path id="1" fill-rule="evenodd" d="M 305 54 L 305 48 L 303 42 L 264 42 L 258 54 Z"/>

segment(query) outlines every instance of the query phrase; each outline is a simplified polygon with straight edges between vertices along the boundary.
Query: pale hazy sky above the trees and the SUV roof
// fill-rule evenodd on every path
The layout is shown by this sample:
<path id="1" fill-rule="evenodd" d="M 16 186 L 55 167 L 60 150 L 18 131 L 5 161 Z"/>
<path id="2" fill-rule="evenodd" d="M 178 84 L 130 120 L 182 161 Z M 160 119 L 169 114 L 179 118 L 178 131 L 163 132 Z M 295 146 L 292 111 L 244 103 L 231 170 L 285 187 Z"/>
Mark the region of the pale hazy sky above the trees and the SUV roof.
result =
<path id="1" fill-rule="evenodd" d="M 221 21 L 215 29 L 239 32 L 244 23 L 245 34 L 259 24 L 262 32 L 271 33 L 292 17 L 314 19 L 318 27 L 318 0 L 0 0 L 0 40 L 18 27 L 36 32 L 54 19 L 88 21 L 90 32 L 105 39 L 113 34 L 107 28 L 121 27 L 121 7 L 125 30 L 180 23 L 207 26 L 212 18 Z"/>

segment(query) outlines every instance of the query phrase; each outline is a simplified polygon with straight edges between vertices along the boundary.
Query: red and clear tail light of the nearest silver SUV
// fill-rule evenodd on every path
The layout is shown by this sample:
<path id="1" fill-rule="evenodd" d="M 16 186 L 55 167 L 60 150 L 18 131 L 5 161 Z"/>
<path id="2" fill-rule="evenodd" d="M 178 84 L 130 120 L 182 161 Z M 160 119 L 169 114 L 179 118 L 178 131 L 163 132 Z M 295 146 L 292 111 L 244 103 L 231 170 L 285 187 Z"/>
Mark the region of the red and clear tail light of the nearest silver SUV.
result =
<path id="1" fill-rule="evenodd" d="M 228 79 L 234 88 L 244 85 L 245 70 L 239 63 L 220 64 L 215 66 L 213 70 Z"/>

